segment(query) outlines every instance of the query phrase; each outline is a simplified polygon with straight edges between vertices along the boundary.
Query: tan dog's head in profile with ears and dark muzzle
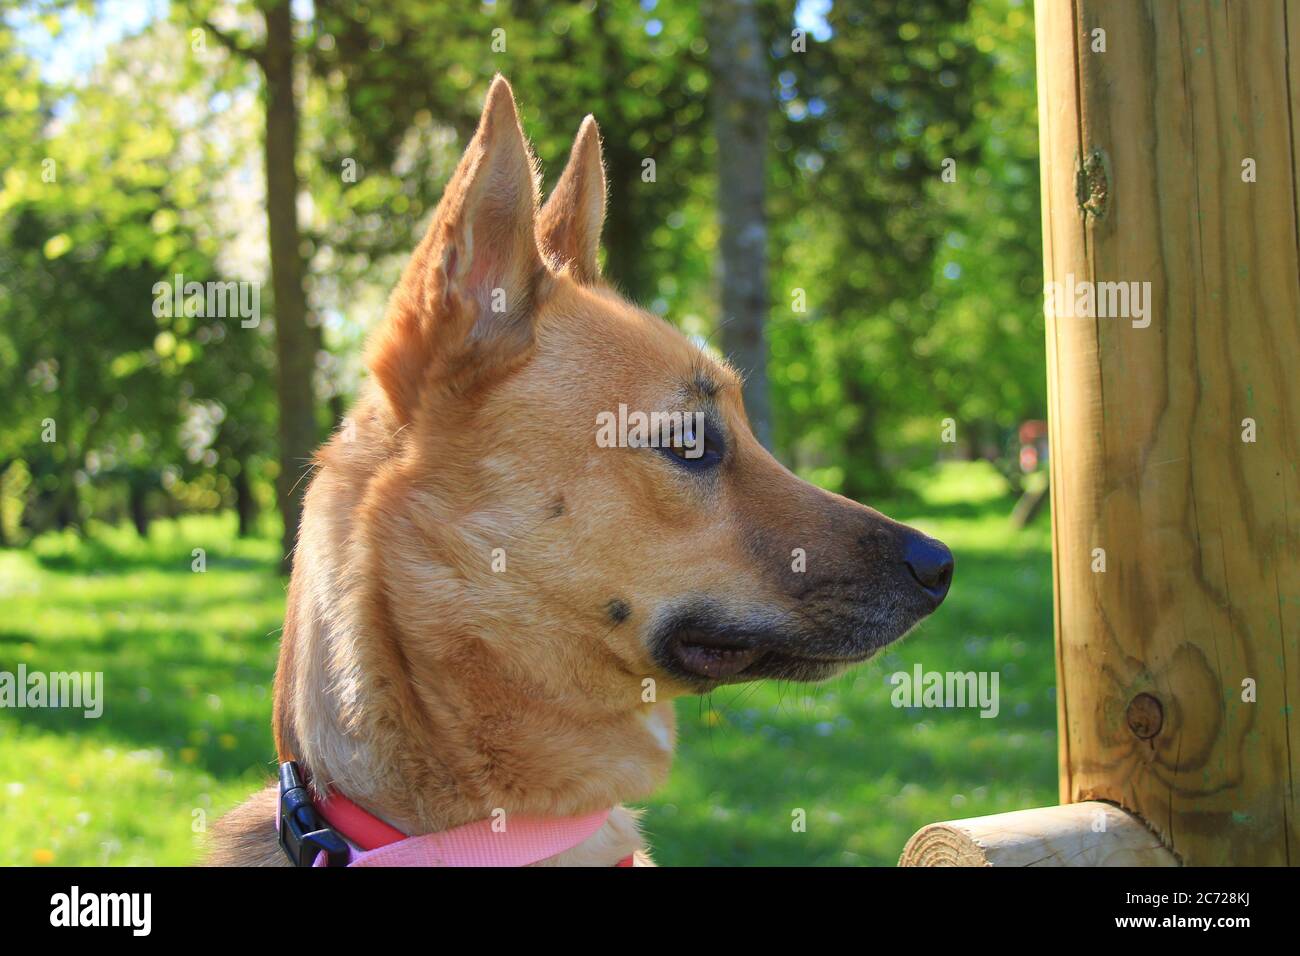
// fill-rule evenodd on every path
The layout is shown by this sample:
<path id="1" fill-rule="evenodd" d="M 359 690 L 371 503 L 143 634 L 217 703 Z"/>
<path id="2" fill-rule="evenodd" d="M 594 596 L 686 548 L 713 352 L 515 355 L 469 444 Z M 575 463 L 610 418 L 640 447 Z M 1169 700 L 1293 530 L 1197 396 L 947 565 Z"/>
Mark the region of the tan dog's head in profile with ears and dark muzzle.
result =
<path id="1" fill-rule="evenodd" d="M 736 372 L 602 281 L 590 117 L 538 198 L 498 78 L 370 343 L 360 520 L 404 640 L 680 693 L 827 678 L 935 610 L 942 544 L 781 467 Z"/>

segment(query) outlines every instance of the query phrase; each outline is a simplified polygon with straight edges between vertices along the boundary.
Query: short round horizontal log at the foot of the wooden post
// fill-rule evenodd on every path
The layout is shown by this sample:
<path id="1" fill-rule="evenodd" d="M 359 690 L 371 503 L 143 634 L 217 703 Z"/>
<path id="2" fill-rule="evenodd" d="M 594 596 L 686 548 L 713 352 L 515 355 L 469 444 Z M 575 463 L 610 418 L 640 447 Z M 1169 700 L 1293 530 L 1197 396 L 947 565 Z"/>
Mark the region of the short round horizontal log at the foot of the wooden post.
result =
<path id="1" fill-rule="evenodd" d="M 1132 814 L 1102 803 L 994 813 L 918 830 L 900 866 L 1178 866 Z"/>

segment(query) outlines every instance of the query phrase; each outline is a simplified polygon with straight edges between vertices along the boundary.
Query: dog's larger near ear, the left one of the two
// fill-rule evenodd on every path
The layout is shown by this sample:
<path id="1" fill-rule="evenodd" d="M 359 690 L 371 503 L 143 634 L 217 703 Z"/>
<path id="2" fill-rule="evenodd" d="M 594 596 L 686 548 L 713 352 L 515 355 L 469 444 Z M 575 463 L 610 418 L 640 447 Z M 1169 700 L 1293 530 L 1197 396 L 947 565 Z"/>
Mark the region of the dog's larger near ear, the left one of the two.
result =
<path id="1" fill-rule="evenodd" d="M 537 207 L 537 161 L 510 83 L 497 75 L 370 345 L 369 367 L 403 418 L 426 382 L 454 380 L 463 389 L 529 352 L 533 304 L 546 276 Z"/>

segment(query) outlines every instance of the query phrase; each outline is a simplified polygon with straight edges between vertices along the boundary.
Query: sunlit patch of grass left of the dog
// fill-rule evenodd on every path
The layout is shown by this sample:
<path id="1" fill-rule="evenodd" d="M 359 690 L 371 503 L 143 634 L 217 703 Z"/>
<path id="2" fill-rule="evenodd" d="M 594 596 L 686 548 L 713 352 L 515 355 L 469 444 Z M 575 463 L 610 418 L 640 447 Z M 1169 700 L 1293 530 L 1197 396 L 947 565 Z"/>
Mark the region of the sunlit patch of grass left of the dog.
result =
<path id="1" fill-rule="evenodd" d="M 0 865 L 192 862 L 273 769 L 276 545 L 230 515 L 92 536 L 0 551 L 0 670 L 104 672 L 98 719 L 0 710 Z"/>

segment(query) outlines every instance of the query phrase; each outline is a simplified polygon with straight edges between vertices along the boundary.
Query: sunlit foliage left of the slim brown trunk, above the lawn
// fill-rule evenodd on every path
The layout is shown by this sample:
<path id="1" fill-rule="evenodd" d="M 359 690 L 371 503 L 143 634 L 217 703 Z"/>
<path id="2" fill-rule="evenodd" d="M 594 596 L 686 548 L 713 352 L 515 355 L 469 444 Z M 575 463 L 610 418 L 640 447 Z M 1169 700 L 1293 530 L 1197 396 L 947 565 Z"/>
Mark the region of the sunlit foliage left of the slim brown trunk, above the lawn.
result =
<path id="1" fill-rule="evenodd" d="M 0 398 L 12 414 L 0 471 L 26 462 L 38 528 L 44 512 L 64 524 L 79 505 L 110 511 L 124 483 L 139 498 L 199 480 L 226 501 L 270 444 L 266 330 L 156 307 L 156 286 L 177 274 L 261 280 L 221 268 L 239 225 L 225 199 L 230 166 L 255 146 L 240 135 L 246 117 L 220 105 L 239 78 L 178 48 L 185 38 L 159 23 L 110 48 L 101 82 L 70 99 L 12 61 L 16 152 L 0 190 Z"/>

